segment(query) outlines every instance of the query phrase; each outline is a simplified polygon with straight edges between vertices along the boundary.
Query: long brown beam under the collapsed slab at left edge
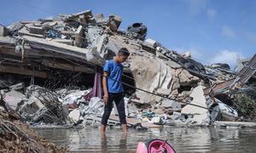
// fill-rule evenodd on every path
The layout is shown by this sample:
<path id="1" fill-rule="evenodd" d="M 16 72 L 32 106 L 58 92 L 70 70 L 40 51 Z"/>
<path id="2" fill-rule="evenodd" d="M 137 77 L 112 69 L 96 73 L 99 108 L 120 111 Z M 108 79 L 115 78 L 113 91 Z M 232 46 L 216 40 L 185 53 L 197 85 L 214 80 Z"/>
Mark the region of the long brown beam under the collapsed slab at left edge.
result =
<path id="1" fill-rule="evenodd" d="M 42 78 L 47 78 L 47 73 L 44 71 L 31 71 L 25 68 L 18 68 L 18 67 L 13 67 L 9 65 L 1 65 L 0 66 L 0 71 L 5 72 L 5 73 L 13 73 L 13 74 L 20 74 L 20 75 L 25 75 L 25 76 L 35 76 L 35 77 L 42 77 Z"/>

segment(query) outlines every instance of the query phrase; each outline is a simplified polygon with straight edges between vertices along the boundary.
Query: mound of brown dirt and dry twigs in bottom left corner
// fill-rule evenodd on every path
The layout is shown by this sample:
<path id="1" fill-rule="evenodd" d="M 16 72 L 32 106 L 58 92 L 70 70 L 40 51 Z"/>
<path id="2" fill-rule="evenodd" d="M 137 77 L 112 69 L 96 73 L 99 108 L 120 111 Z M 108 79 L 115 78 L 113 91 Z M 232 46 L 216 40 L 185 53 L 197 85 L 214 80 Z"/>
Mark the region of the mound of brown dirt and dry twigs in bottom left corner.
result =
<path id="1" fill-rule="evenodd" d="M 26 123 L 17 119 L 12 112 L 0 109 L 1 152 L 68 152 L 38 137 Z"/>

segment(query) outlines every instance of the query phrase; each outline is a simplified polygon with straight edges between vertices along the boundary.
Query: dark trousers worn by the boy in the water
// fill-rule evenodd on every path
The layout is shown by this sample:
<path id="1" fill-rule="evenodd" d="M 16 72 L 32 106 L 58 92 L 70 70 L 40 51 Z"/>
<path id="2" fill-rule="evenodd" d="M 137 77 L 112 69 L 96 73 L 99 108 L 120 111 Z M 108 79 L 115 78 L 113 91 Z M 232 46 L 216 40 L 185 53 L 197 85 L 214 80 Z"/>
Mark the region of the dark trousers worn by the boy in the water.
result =
<path id="1" fill-rule="evenodd" d="M 124 103 L 124 93 L 109 93 L 108 94 L 108 104 L 104 106 L 104 114 L 102 116 L 102 125 L 107 125 L 108 118 L 113 109 L 113 101 L 119 112 L 119 120 L 121 124 L 126 124 L 125 118 L 125 103 Z"/>

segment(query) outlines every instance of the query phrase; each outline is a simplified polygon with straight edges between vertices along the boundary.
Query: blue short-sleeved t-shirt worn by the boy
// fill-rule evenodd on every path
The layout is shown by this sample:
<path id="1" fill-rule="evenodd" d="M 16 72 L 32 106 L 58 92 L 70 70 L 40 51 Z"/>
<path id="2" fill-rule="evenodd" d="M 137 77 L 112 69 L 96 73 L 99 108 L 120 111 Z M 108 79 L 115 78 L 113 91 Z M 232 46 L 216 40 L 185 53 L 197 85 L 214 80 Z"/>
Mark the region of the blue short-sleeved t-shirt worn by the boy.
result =
<path id="1" fill-rule="evenodd" d="M 104 65 L 103 71 L 108 71 L 108 93 L 122 93 L 124 92 L 123 86 L 121 82 L 122 73 L 123 73 L 123 65 L 116 63 L 113 59 L 108 60 Z M 119 82 L 116 82 L 117 80 Z"/>

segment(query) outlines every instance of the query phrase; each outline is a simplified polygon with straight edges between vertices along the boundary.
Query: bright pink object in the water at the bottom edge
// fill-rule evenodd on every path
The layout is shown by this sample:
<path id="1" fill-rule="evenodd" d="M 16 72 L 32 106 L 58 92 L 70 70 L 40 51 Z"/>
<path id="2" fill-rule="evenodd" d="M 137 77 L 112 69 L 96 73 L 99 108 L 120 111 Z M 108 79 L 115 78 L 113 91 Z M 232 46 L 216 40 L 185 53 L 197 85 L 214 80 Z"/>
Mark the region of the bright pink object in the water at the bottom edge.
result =
<path id="1" fill-rule="evenodd" d="M 152 139 L 147 144 L 140 142 L 137 145 L 137 153 L 175 153 L 171 144 L 162 139 Z"/>

